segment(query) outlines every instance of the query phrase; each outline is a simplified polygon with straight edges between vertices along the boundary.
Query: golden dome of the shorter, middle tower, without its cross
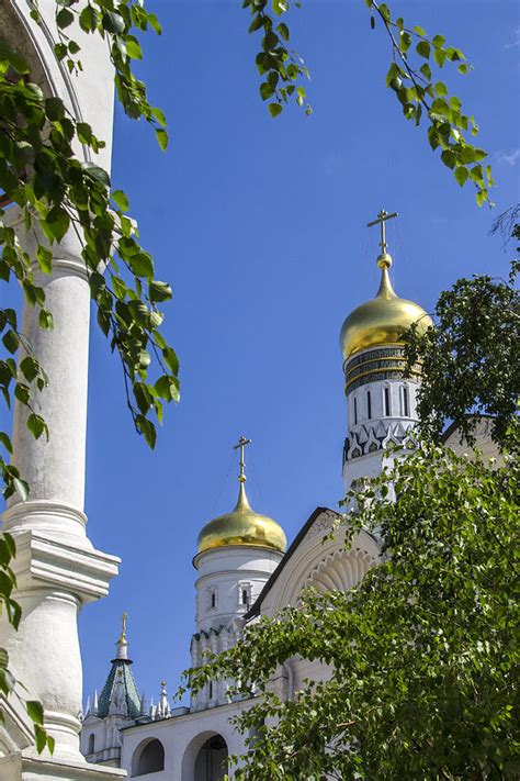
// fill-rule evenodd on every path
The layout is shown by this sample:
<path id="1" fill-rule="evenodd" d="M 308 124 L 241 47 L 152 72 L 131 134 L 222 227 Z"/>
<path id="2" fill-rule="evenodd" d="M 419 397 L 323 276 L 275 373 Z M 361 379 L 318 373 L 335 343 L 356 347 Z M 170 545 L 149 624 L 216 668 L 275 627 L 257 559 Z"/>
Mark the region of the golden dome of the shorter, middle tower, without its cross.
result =
<path id="1" fill-rule="evenodd" d="M 241 479 L 235 510 L 219 515 L 203 527 L 197 539 L 197 553 L 228 545 L 257 545 L 284 553 L 286 544 L 280 524 L 251 509 Z"/>

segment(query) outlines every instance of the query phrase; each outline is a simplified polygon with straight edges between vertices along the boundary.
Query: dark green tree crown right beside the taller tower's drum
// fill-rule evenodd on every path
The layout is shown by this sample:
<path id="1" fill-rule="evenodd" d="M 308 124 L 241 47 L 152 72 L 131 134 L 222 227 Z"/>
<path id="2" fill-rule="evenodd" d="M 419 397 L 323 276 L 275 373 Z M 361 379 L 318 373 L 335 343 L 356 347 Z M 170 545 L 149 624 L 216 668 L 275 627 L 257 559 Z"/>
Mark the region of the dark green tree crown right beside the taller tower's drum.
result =
<path id="1" fill-rule="evenodd" d="M 493 416 L 496 438 L 505 436 L 520 398 L 520 293 L 515 287 L 518 263 L 509 280 L 489 276 L 460 279 L 441 293 L 436 324 L 420 335 L 408 334 L 408 366 L 421 362 L 418 392 L 420 428 L 440 439 L 453 421 L 473 440 L 479 415 Z M 474 413 L 467 415 L 467 412 Z"/>

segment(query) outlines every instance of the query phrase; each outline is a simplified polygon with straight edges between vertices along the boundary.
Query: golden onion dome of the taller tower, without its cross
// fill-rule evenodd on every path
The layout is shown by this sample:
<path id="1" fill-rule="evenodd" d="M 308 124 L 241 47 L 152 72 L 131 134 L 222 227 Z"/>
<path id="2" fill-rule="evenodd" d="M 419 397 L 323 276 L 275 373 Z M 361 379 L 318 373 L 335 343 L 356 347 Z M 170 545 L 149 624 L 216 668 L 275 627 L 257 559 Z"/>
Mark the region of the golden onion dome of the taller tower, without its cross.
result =
<path id="1" fill-rule="evenodd" d="M 377 258 L 377 266 L 381 284 L 375 298 L 354 309 L 342 325 L 340 345 L 346 360 L 369 347 L 403 344 L 403 334 L 412 323 L 420 333 L 432 325 L 422 306 L 395 292 L 388 276 L 392 258 L 386 252 Z"/>

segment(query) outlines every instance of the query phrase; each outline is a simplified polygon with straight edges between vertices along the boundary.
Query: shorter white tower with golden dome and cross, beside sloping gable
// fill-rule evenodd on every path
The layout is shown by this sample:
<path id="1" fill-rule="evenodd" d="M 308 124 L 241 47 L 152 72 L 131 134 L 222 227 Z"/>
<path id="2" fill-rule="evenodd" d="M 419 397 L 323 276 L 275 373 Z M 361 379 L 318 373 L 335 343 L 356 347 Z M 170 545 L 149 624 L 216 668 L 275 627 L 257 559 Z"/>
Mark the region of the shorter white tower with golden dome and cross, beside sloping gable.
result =
<path id="1" fill-rule="evenodd" d="M 246 494 L 245 448 L 241 436 L 238 499 L 235 509 L 210 521 L 201 531 L 193 566 L 197 570 L 195 623 L 191 641 L 192 666 L 208 651 L 222 652 L 237 641 L 242 618 L 278 567 L 286 546 L 282 527 L 252 510 Z M 192 710 L 227 702 L 224 681 L 208 683 L 192 701 Z"/>

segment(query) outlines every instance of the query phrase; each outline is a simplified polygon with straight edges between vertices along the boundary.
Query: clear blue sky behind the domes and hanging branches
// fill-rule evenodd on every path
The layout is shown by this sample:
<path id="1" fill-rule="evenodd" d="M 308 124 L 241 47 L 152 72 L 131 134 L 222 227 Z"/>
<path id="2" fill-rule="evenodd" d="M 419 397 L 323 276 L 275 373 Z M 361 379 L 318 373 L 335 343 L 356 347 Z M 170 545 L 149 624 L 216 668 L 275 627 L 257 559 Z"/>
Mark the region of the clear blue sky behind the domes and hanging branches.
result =
<path id="1" fill-rule="evenodd" d="M 292 14 L 314 113 L 292 107 L 275 121 L 258 96 L 258 42 L 240 4 L 148 3 L 163 35 L 145 38 L 140 72 L 169 118 L 166 155 L 116 111 L 113 182 L 173 287 L 166 332 L 182 401 L 150 453 L 133 431 L 121 368 L 93 331 L 89 533 L 123 564 L 110 596 L 80 617 L 86 693 L 103 684 L 123 610 L 139 688 L 156 698 L 162 677 L 176 688 L 189 665 L 196 535 L 234 505 L 240 434 L 253 440 L 251 504 L 290 539 L 317 505 L 336 506 L 346 435 L 338 336 L 375 292 L 377 236 L 366 222 L 382 207 L 399 212 L 388 238 L 402 295 L 431 310 L 461 276 L 507 274 L 508 255 L 488 235 L 493 213 L 459 188 L 385 90 L 389 49 L 363 1 L 306 1 Z M 449 82 L 481 124 L 498 214 L 519 196 L 518 3 L 391 5 L 474 64 Z"/>

